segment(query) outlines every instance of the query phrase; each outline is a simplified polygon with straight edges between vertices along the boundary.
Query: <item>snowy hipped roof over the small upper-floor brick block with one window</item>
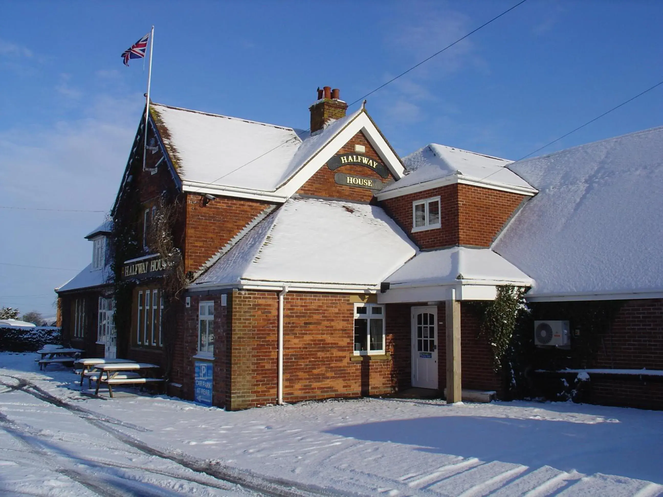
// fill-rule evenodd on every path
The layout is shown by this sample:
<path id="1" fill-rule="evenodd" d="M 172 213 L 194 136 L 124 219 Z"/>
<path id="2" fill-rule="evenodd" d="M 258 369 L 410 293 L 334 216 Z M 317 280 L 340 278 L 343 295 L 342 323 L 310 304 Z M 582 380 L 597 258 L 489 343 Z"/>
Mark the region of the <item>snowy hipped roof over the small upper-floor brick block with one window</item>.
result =
<path id="1" fill-rule="evenodd" d="M 381 190 L 379 197 L 387 192 L 436 188 L 442 186 L 437 183 L 443 179 L 530 195 L 536 193 L 528 182 L 506 167 L 510 163 L 511 160 L 431 143 L 403 158 L 406 174 Z"/>

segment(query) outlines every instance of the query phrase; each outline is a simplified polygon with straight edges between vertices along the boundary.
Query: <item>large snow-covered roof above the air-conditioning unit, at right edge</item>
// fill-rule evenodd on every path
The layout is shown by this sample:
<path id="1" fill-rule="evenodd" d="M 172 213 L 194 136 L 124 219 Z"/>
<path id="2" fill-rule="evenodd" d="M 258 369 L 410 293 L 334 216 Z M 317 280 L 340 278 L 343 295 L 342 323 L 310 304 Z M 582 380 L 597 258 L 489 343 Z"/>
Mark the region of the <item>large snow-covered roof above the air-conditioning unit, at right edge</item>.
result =
<path id="1" fill-rule="evenodd" d="M 663 127 L 509 168 L 539 193 L 492 248 L 534 278 L 528 298 L 663 291 Z"/>

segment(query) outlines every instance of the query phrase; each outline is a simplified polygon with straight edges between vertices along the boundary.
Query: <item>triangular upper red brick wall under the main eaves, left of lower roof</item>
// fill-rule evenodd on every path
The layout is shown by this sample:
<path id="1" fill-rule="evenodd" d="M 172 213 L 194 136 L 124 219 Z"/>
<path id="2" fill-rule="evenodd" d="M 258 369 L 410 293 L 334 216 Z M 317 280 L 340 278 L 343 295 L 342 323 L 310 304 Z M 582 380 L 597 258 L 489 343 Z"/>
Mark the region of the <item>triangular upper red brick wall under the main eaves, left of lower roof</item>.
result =
<path id="1" fill-rule="evenodd" d="M 196 271 L 269 205 L 259 200 L 217 197 L 203 205 L 186 195 L 185 270 Z"/>

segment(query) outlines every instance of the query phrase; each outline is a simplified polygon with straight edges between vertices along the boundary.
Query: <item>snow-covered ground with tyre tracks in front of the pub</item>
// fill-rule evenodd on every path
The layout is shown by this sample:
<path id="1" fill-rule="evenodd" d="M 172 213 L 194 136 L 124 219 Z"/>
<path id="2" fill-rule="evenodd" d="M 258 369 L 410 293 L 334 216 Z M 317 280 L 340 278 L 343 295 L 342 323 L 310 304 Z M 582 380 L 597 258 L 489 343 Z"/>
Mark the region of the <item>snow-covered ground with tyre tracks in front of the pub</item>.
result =
<path id="1" fill-rule="evenodd" d="M 0 494 L 663 495 L 663 412 L 509 402 L 310 402 L 224 412 L 78 391 L 0 354 Z"/>

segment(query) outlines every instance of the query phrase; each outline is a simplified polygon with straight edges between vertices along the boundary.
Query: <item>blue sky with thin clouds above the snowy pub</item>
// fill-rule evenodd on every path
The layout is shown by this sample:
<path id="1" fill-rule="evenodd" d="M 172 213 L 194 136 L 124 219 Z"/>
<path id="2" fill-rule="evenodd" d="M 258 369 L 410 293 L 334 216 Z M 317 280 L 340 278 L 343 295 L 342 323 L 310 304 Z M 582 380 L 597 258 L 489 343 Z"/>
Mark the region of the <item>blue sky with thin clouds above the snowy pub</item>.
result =
<path id="1" fill-rule="evenodd" d="M 512 1 L 5 2 L 0 206 L 107 211 L 147 71 L 152 100 L 306 129 L 316 88 L 351 102 Z M 663 80 L 663 3 L 528 0 L 368 98 L 396 151 L 518 159 Z M 663 85 L 538 154 L 663 124 Z M 84 268 L 103 213 L 0 209 L 0 263 Z M 0 264 L 0 306 L 54 315 L 70 270 Z"/>

